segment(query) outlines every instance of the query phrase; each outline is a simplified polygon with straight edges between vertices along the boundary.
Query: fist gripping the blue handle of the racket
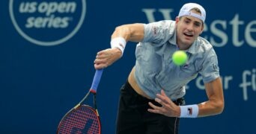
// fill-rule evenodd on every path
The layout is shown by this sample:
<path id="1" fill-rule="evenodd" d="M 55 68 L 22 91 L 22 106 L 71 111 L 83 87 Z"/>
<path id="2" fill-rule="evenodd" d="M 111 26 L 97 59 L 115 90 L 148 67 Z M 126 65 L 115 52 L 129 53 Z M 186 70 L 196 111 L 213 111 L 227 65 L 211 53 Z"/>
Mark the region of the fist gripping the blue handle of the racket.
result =
<path id="1" fill-rule="evenodd" d="M 96 59 L 94 60 L 94 68 L 106 68 L 116 60 L 122 57 L 122 52 L 118 48 L 108 48 L 97 53 Z"/>

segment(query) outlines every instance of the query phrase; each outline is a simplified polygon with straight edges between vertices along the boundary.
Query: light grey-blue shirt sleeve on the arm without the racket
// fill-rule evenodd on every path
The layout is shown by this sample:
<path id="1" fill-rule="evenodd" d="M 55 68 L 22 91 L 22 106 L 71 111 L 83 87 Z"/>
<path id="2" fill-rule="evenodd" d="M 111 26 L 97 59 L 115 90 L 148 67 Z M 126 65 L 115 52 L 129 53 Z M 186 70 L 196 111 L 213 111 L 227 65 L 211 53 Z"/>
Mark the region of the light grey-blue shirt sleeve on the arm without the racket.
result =
<path id="1" fill-rule="evenodd" d="M 207 54 L 199 73 L 202 75 L 204 83 L 209 83 L 219 77 L 218 58 L 213 48 Z"/>

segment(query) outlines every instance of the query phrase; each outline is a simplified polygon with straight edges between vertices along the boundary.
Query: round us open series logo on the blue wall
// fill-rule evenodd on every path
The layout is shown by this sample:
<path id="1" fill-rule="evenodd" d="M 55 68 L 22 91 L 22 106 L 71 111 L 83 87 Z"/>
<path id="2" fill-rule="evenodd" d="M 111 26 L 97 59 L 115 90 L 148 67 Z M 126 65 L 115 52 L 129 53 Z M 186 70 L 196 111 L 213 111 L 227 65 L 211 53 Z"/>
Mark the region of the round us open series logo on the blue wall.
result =
<path id="1" fill-rule="evenodd" d="M 36 45 L 59 45 L 72 38 L 85 19 L 85 0 L 9 1 L 16 31 Z"/>

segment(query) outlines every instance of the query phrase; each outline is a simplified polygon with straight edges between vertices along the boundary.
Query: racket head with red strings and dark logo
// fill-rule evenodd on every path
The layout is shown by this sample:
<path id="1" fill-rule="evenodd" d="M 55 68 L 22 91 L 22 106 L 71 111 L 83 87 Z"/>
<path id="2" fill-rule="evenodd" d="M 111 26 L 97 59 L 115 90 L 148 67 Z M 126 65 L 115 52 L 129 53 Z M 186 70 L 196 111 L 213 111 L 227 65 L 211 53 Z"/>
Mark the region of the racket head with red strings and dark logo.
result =
<path id="1" fill-rule="evenodd" d="M 96 109 L 80 105 L 67 112 L 58 125 L 58 134 L 90 133 L 100 134 L 100 117 Z"/>

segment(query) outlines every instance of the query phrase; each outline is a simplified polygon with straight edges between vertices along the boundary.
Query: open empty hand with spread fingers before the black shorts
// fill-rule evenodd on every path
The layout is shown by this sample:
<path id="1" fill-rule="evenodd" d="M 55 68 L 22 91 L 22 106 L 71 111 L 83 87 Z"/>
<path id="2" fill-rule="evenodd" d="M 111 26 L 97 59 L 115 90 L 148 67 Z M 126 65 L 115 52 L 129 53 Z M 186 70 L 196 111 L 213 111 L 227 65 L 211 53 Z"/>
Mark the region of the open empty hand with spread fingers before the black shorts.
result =
<path id="1" fill-rule="evenodd" d="M 161 94 L 156 94 L 156 102 L 162 106 L 156 106 L 153 103 L 148 103 L 153 109 L 147 109 L 148 112 L 159 113 L 168 117 L 180 117 L 180 106 L 177 106 L 171 101 L 165 92 L 161 90 Z"/>

